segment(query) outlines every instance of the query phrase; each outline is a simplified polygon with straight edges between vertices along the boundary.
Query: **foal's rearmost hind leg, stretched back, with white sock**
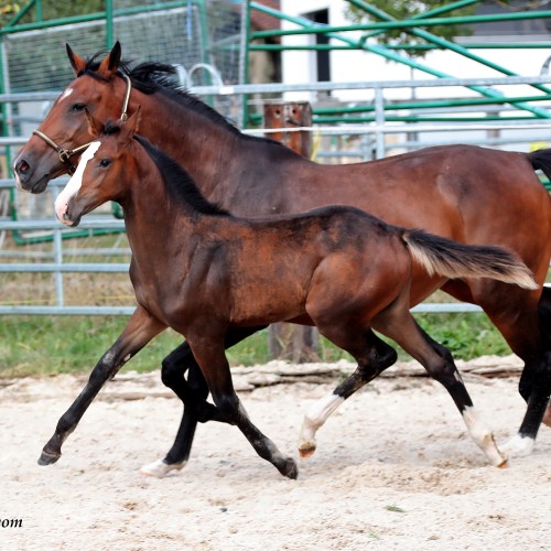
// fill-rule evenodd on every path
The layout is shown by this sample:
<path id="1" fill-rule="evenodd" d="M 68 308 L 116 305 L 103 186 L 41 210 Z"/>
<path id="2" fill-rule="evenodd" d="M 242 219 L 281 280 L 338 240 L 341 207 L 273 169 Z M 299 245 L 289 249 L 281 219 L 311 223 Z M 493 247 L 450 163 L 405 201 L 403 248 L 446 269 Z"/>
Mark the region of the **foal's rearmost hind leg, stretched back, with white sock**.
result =
<path id="1" fill-rule="evenodd" d="M 390 309 L 374 318 L 374 327 L 396 341 L 450 392 L 467 431 L 490 464 L 504 466 L 507 458 L 497 449 L 494 435 L 480 421 L 447 348 L 434 342 L 415 323 L 407 307 Z"/>

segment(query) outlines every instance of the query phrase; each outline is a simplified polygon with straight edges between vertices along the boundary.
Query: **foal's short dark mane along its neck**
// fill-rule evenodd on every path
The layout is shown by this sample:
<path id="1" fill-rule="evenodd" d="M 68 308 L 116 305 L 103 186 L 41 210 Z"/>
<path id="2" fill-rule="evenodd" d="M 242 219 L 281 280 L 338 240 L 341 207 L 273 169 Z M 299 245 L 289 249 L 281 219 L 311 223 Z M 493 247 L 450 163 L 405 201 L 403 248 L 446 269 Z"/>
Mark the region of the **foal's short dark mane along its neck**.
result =
<path id="1" fill-rule="evenodd" d="M 104 134 L 118 134 L 120 130 L 120 123 L 109 121 L 104 129 Z M 166 187 L 166 192 L 172 199 L 181 205 L 191 206 L 194 210 L 201 214 L 230 216 L 230 214 L 219 205 L 210 203 L 207 198 L 205 198 L 199 188 L 195 185 L 192 176 L 190 176 L 190 174 L 187 174 L 187 172 L 172 158 L 152 145 L 151 142 L 142 136 L 134 134 L 133 138 L 142 145 L 158 166 Z"/>

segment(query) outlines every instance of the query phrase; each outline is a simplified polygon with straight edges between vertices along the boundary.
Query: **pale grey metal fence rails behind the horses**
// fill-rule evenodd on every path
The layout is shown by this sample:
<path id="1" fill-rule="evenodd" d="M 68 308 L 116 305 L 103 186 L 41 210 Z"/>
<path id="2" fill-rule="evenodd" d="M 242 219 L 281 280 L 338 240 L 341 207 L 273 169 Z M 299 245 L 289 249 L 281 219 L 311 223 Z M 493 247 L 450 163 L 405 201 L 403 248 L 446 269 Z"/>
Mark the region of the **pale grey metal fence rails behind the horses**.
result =
<path id="1" fill-rule="evenodd" d="M 311 85 L 291 85 L 285 86 L 282 84 L 270 85 L 236 85 L 236 86 L 208 86 L 195 87 L 191 91 L 199 96 L 225 96 L 231 98 L 231 101 L 241 101 L 242 97 L 251 97 L 252 95 L 264 95 L 287 93 L 305 91 L 313 94 L 321 90 L 337 90 L 337 89 L 355 89 L 359 90 L 360 96 L 370 96 L 371 105 L 374 106 L 375 120 L 370 123 L 345 125 L 338 122 L 335 125 L 314 125 L 312 128 L 289 128 L 285 131 L 301 131 L 309 130 L 315 132 L 316 136 L 324 137 L 325 139 L 338 138 L 342 136 L 357 137 L 361 140 L 360 148 L 350 148 L 346 151 L 333 151 L 321 149 L 317 152 L 320 159 L 333 158 L 338 161 L 342 158 L 349 156 L 352 159 L 371 159 L 381 158 L 387 154 L 390 149 L 409 150 L 413 148 L 421 148 L 428 144 L 436 144 L 449 142 L 446 136 L 456 138 L 458 132 L 471 134 L 469 142 L 479 142 L 480 144 L 491 143 L 500 147 L 507 147 L 515 143 L 518 149 L 528 149 L 531 142 L 550 142 L 551 143 L 551 128 L 549 122 L 544 119 L 533 118 L 533 120 L 507 120 L 507 115 L 510 108 L 504 106 L 503 102 L 491 106 L 497 112 L 504 114 L 501 120 L 491 120 L 488 122 L 465 122 L 457 120 L 457 122 L 442 123 L 403 123 L 403 122 L 389 122 L 390 110 L 387 110 L 388 101 L 385 97 L 385 91 L 393 88 L 435 88 L 435 87 L 464 87 L 464 86 L 519 86 L 550 83 L 549 75 L 538 77 L 503 77 L 491 79 L 440 79 L 440 80 L 418 80 L 418 82 L 379 82 L 379 83 L 316 83 Z M 31 94 L 4 94 L 0 95 L 1 102 L 15 102 L 21 104 L 25 101 L 51 101 L 57 97 L 57 93 L 31 93 Z M 251 102 L 252 107 L 258 105 L 256 100 Z M 544 109 L 548 102 L 542 101 L 539 108 Z M 446 111 L 443 107 L 437 108 L 440 112 Z M 474 108 L 469 108 L 473 110 Z M 478 107 L 477 107 L 478 109 Z M 489 109 L 485 106 L 484 109 Z M 458 111 L 455 110 L 455 114 Z M 461 112 L 460 112 L 461 115 Z M 36 125 L 40 120 L 36 120 Z M 10 121 L 11 122 L 11 121 Z M 279 132 L 282 129 L 278 129 Z M 264 129 L 246 130 L 246 132 L 253 134 L 266 134 L 269 131 Z M 450 134 L 450 132 L 454 132 Z M 501 136 L 488 137 L 488 133 Z M 426 141 L 426 136 L 429 141 Z M 389 137 L 392 138 L 390 142 Z M 28 137 L 3 137 L 0 138 L 0 148 L 6 148 L 7 152 L 11 149 L 17 149 L 19 145 L 25 143 Z M 519 147 L 520 144 L 520 147 Z M 10 156 L 10 155 L 8 155 Z M 37 201 L 51 203 L 58 191 L 60 186 L 64 185 L 66 179 L 60 179 L 52 183 L 50 198 L 41 196 Z M 11 194 L 14 205 L 18 204 L 18 198 L 28 198 L 28 194 L 22 194 L 15 191 L 13 180 L 0 180 L 0 194 Z M 123 220 L 117 219 L 110 214 L 97 215 L 93 214 L 83 219 L 79 230 L 105 230 L 105 231 L 123 231 Z M 128 271 L 127 262 L 88 262 L 88 261 L 67 261 L 68 255 L 66 237 L 67 229 L 63 227 L 53 216 L 44 218 L 24 218 L 17 209 L 12 209 L 12 214 L 1 215 L 0 213 L 0 236 L 4 233 L 11 231 L 13 235 L 19 233 L 31 231 L 48 231 L 48 238 L 52 240 L 53 250 L 51 252 L 41 252 L 36 255 L 25 256 L 23 251 L 15 251 L 12 258 L 9 258 L 8 251 L 1 251 L 6 255 L 0 256 L 0 276 L 10 273 L 48 273 L 54 276 L 55 285 L 55 304 L 51 305 L 18 305 L 8 304 L 7 300 L 2 300 L 2 292 L 0 288 L 0 315 L 7 314 L 32 314 L 32 315 L 129 315 L 133 311 L 133 306 L 99 306 L 99 305 L 66 305 L 64 298 L 64 279 L 72 273 L 123 273 Z M 71 230 L 69 230 L 71 231 Z M 1 240 L 0 240 L 1 242 Z M 105 256 L 101 251 L 93 250 L 91 253 L 97 256 Z M 128 248 L 120 251 L 109 251 L 110 255 L 120 253 L 128 256 Z M 13 261 L 17 260 L 17 261 Z M 25 261 L 29 260 L 29 261 Z M 413 309 L 414 312 L 480 312 L 478 306 L 461 303 L 423 303 Z"/>

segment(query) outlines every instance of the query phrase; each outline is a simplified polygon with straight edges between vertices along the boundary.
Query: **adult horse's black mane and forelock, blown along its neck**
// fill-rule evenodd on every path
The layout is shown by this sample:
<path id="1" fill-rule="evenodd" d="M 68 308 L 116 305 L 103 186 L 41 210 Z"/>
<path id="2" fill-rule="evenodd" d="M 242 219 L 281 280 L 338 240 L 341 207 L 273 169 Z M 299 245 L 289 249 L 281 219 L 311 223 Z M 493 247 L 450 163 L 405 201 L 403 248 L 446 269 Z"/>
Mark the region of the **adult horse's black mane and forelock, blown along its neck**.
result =
<path id="1" fill-rule="evenodd" d="M 102 78 L 97 74 L 97 69 L 100 64 L 98 57 L 100 56 L 102 56 L 102 53 L 98 52 L 87 60 L 84 69 L 82 69 L 77 76 L 86 74 L 93 78 L 102 80 Z M 122 61 L 119 64 L 117 75 L 119 77 L 122 77 L 122 75 L 129 76 L 132 82 L 132 86 L 141 93 L 148 95 L 161 94 L 181 106 L 205 116 L 207 119 L 225 128 L 233 134 L 240 137 L 241 139 L 269 142 L 281 147 L 283 151 L 290 151 L 280 142 L 269 138 L 252 137 L 242 133 L 234 123 L 220 115 L 216 109 L 213 109 L 209 105 L 186 91 L 179 83 L 176 76 L 177 73 L 174 66 L 159 62 L 144 62 L 136 67 L 131 67 L 131 61 Z"/>

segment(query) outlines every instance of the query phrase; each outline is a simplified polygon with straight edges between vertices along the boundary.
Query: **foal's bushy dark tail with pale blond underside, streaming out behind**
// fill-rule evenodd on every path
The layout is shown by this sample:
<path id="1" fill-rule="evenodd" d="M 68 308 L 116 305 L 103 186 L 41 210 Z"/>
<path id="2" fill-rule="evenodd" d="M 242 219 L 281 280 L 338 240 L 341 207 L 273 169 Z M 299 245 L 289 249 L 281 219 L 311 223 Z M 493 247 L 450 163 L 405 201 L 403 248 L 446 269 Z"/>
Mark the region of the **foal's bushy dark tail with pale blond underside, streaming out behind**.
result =
<path id="1" fill-rule="evenodd" d="M 523 289 L 538 289 L 532 272 L 517 255 L 500 247 L 463 245 L 420 229 L 404 229 L 402 240 L 411 258 L 429 276 L 450 279 L 491 278 Z"/>

